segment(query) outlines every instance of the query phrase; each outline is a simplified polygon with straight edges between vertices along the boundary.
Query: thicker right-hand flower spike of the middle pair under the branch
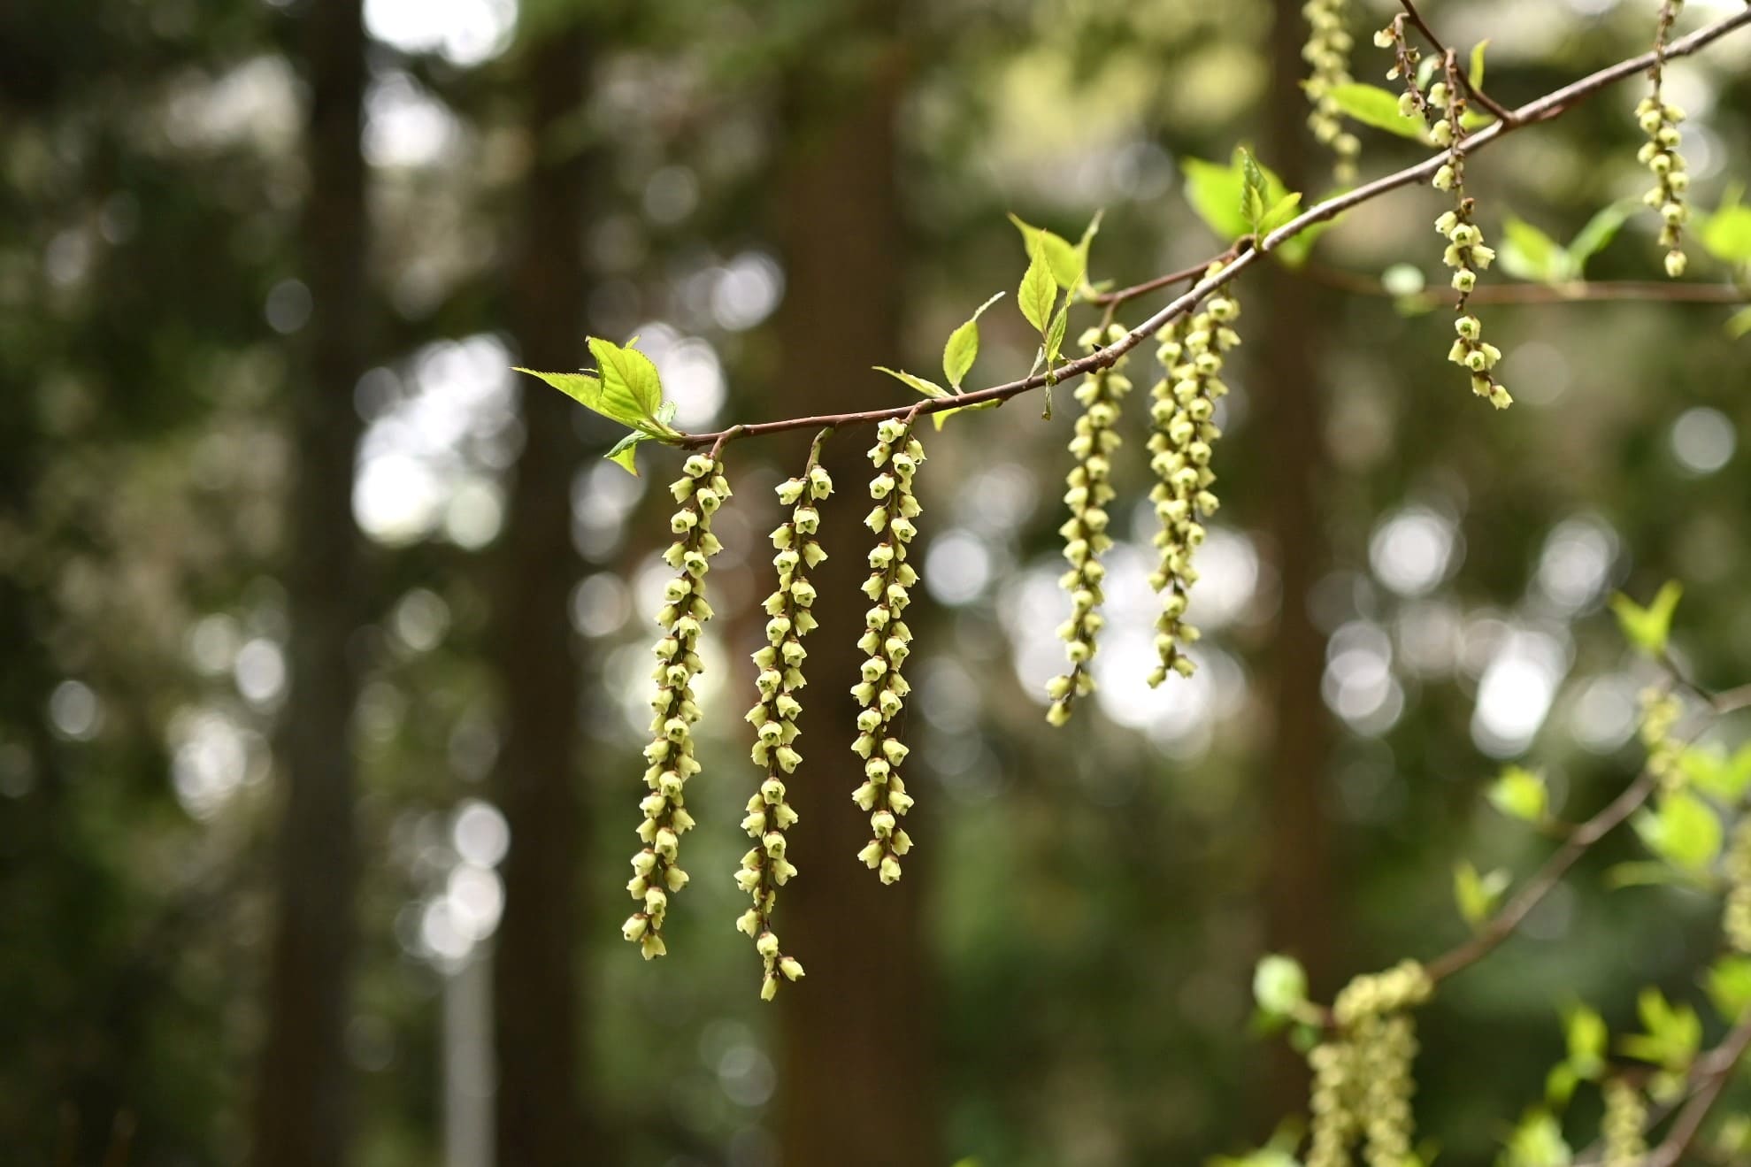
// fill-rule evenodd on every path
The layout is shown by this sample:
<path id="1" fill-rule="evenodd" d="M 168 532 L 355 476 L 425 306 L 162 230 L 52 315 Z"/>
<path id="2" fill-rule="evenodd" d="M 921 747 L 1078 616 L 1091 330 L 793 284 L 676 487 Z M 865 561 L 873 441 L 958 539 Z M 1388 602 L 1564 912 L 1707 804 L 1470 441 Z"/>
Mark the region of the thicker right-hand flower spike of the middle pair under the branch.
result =
<path id="1" fill-rule="evenodd" d="M 1163 377 L 1150 396 L 1149 470 L 1156 485 L 1149 501 L 1156 506 L 1161 529 L 1156 548 L 1161 562 L 1149 585 L 1163 592 L 1156 617 L 1156 652 L 1159 664 L 1149 675 L 1150 687 L 1171 673 L 1192 675 L 1185 647 L 1198 640 L 1198 629 L 1185 620 L 1191 587 L 1198 580 L 1192 555 L 1205 541 L 1205 520 L 1215 513 L 1215 471 L 1210 456 L 1222 431 L 1215 424 L 1215 403 L 1227 393 L 1222 384 L 1224 354 L 1240 345 L 1234 321 L 1240 301 L 1219 291 L 1187 321 L 1170 321 L 1156 338 L 1156 359 Z"/>

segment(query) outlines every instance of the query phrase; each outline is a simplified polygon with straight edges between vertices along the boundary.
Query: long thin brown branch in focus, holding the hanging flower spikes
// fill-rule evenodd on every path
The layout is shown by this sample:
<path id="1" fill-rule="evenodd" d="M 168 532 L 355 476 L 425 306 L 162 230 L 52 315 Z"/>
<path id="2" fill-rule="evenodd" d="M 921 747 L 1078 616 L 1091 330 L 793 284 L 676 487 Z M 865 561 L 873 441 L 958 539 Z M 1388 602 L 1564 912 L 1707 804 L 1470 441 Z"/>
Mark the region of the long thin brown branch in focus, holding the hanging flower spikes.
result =
<path id="1" fill-rule="evenodd" d="M 1677 40 L 1665 46 L 1663 60 L 1670 61 L 1674 58 L 1690 56 L 1691 53 L 1697 53 L 1698 49 L 1714 44 L 1721 37 L 1739 28 L 1744 28 L 1746 25 L 1751 25 L 1751 7 L 1735 16 L 1728 16 L 1726 19 L 1716 21 L 1714 25 L 1698 28 L 1688 37 L 1679 37 Z M 1483 149 L 1490 142 L 1495 142 L 1504 133 L 1513 133 L 1515 130 L 1520 130 L 1532 123 L 1551 121 L 1553 117 L 1560 117 L 1576 105 L 1579 105 L 1581 102 L 1585 102 L 1586 98 L 1599 93 L 1600 89 L 1606 89 L 1623 81 L 1625 77 L 1634 77 L 1635 74 L 1641 74 L 1646 68 L 1649 68 L 1653 63 L 1655 63 L 1655 54 L 1642 53 L 1641 56 L 1632 56 L 1625 61 L 1618 61 L 1616 65 L 1588 74 L 1586 77 L 1581 77 L 1579 81 L 1574 81 L 1560 89 L 1553 89 L 1551 93 L 1546 93 L 1536 102 L 1529 102 L 1520 109 L 1513 110 L 1513 117 L 1502 117 L 1499 121 L 1494 121 L 1478 133 L 1467 137 L 1460 145 L 1460 152 L 1471 154 L 1478 149 Z M 1443 165 L 1446 165 L 1448 154 L 1450 151 L 1441 151 L 1439 154 L 1434 154 L 1432 158 L 1427 158 L 1425 161 L 1420 161 L 1413 166 L 1406 166 L 1404 170 L 1397 170 L 1385 177 L 1375 179 L 1373 182 L 1366 182 L 1355 187 L 1354 191 L 1338 194 L 1334 198 L 1327 198 L 1326 202 L 1310 207 L 1308 210 L 1301 212 L 1283 226 L 1266 235 L 1255 245 L 1252 247 L 1241 245 L 1238 254 L 1234 254 L 1234 258 L 1229 259 L 1219 272 L 1213 272 L 1212 275 L 1206 275 L 1196 284 L 1192 284 L 1189 291 L 1185 291 L 1170 305 L 1166 305 L 1152 317 L 1133 328 L 1122 338 L 1115 340 L 1114 343 L 1098 352 L 1091 352 L 1086 357 L 1079 357 L 1075 361 L 1061 364 L 1049 373 L 1023 377 L 1021 380 L 1010 380 L 1002 385 L 991 385 L 989 389 L 979 389 L 974 393 L 961 393 L 946 398 L 928 398 L 921 405 L 898 405 L 877 410 L 861 410 L 856 414 L 821 414 L 816 417 L 788 417 L 784 421 L 751 422 L 720 433 L 686 435 L 669 442 L 669 445 L 676 445 L 681 449 L 697 449 L 702 445 L 711 445 L 720 440 L 728 440 L 732 436 L 732 431 L 734 436 L 737 438 L 742 436 L 751 438 L 756 435 L 786 433 L 791 429 L 819 429 L 823 426 L 833 426 L 833 428 L 868 426 L 874 422 L 886 421 L 890 417 L 905 417 L 907 414 L 937 414 L 940 410 L 954 410 L 965 405 L 979 405 L 982 401 L 1007 401 L 1009 398 L 1028 393 L 1031 389 L 1040 389 L 1042 385 L 1056 385 L 1073 377 L 1080 377 L 1082 373 L 1093 373 L 1098 368 L 1108 368 L 1114 361 L 1119 359 L 1119 356 L 1129 352 L 1131 349 L 1140 345 L 1145 338 L 1154 336 L 1163 324 L 1178 315 L 1184 315 L 1185 312 L 1191 312 L 1192 307 L 1198 305 L 1198 301 L 1201 301 L 1205 296 L 1222 287 L 1229 280 L 1236 279 L 1241 272 L 1257 263 L 1261 256 L 1276 251 L 1285 242 L 1301 235 L 1308 228 L 1317 226 L 1320 223 L 1329 223 L 1354 207 L 1361 207 L 1362 203 L 1373 202 L 1389 191 L 1399 189 L 1401 186 L 1410 186 L 1413 182 L 1422 182 L 1434 177 L 1434 172 L 1439 170 Z M 1212 258 L 1212 263 L 1219 259 L 1220 254 Z"/>

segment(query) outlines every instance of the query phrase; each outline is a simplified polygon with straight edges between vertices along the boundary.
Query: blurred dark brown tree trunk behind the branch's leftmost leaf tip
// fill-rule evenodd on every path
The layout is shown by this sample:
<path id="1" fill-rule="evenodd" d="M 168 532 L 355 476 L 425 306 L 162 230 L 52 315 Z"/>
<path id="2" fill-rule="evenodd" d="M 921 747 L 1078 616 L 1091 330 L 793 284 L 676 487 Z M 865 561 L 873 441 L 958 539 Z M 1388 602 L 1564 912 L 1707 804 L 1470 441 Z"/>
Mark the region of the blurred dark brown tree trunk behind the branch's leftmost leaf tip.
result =
<path id="1" fill-rule="evenodd" d="M 534 368 L 576 368 L 583 352 L 581 205 L 590 166 L 559 130 L 585 100 L 588 49 L 580 21 L 527 46 L 529 170 L 511 265 L 511 328 Z M 560 1167 L 590 1158 L 580 1083 L 583 985 L 578 972 L 578 662 L 567 598 L 578 576 L 571 477 L 574 405 L 524 385 L 527 436 L 499 543 L 492 664 L 504 703 L 496 794 L 511 829 L 504 918 L 496 939 L 497 1162 Z"/>

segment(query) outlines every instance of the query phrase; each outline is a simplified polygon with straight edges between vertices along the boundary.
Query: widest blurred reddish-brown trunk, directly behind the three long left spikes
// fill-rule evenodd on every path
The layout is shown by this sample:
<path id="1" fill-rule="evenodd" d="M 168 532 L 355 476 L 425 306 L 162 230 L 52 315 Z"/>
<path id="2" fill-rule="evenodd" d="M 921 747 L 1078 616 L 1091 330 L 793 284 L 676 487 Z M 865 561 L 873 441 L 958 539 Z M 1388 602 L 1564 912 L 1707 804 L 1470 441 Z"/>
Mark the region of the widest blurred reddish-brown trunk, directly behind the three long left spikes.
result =
<path id="1" fill-rule="evenodd" d="M 891 9 L 868 12 L 833 33 L 833 51 L 847 54 L 854 37 L 877 40 L 867 77 L 809 54 L 786 79 L 786 154 L 774 184 L 786 272 L 776 415 L 867 408 L 877 385 L 870 364 L 891 364 L 900 352 L 905 247 L 893 121 L 904 61 Z M 826 447 L 833 482 L 849 498 L 833 508 L 837 522 L 821 527 L 828 559 L 814 576 L 823 603 L 821 629 L 809 638 L 807 760 L 791 783 L 804 827 L 791 853 L 802 874 L 777 908 L 777 932 L 807 969 L 807 981 L 779 994 L 779 1141 L 791 1167 L 939 1162 L 921 936 L 928 820 L 912 824 L 921 846 L 900 883 L 883 887 L 856 860 L 868 822 L 851 801 L 856 704 L 847 689 L 861 662 L 868 531 L 856 498 L 870 477 L 870 442 L 865 428 Z M 791 468 L 805 443 L 790 450 Z"/>

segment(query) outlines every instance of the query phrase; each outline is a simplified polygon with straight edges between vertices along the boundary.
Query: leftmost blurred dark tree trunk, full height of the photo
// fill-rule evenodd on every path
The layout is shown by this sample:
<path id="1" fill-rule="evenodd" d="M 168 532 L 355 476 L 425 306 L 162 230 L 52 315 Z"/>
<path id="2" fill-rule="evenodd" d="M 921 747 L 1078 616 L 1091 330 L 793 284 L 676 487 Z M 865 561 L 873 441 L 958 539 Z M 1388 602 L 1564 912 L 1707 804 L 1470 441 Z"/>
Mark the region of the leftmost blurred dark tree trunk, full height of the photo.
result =
<path id="1" fill-rule="evenodd" d="M 345 1029 L 357 883 L 350 732 L 357 680 L 347 641 L 361 612 L 354 384 L 366 366 L 368 301 L 361 0 L 312 0 L 303 19 L 310 189 L 299 247 L 313 308 L 292 389 L 287 803 L 252 1132 L 256 1167 L 343 1163 L 352 1099 Z"/>

